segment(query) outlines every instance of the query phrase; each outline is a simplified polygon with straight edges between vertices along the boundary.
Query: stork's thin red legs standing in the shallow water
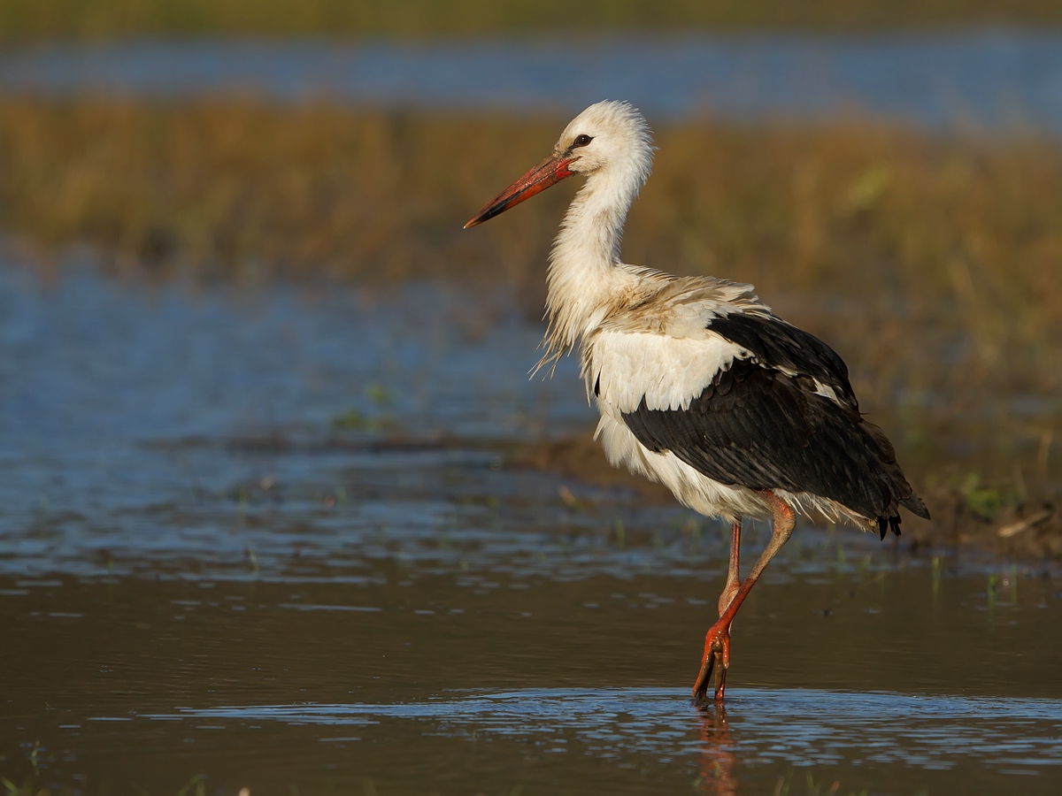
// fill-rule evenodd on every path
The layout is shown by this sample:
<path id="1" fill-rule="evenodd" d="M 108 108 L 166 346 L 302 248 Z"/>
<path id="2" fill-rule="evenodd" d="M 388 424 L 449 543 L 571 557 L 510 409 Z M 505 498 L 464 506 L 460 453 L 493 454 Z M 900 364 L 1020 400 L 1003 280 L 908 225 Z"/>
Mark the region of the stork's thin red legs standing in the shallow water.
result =
<path id="1" fill-rule="evenodd" d="M 796 524 L 796 515 L 793 513 L 793 509 L 788 504 L 778 500 L 774 492 L 764 489 L 759 495 L 767 501 L 767 504 L 771 507 L 771 513 L 774 515 L 771 540 L 767 542 L 767 548 L 760 553 L 759 558 L 756 560 L 756 566 L 752 568 L 752 572 L 741 583 L 737 592 L 734 593 L 733 598 L 726 604 L 725 609 L 719 615 L 719 621 L 712 625 L 704 637 L 704 658 L 701 660 L 701 672 L 697 676 L 697 682 L 693 683 L 693 698 L 698 702 L 703 699 L 707 693 L 708 680 L 712 679 L 713 672 L 716 673 L 715 699 L 716 702 L 722 702 L 723 691 L 726 687 L 726 670 L 730 668 L 730 628 L 734 622 L 734 616 L 737 613 L 738 608 L 741 607 L 741 603 L 749 595 L 752 587 L 756 585 L 756 581 L 759 579 L 767 565 L 770 564 L 771 559 L 782 549 L 782 546 L 789 541 L 789 537 L 793 533 L 793 526 Z M 736 533 L 739 535 L 740 530 L 736 530 Z M 735 531 L 732 531 L 732 546 L 734 534 Z M 737 555 L 734 553 L 733 547 L 731 550 L 731 565 L 734 568 L 736 577 Z M 727 571 L 727 585 L 729 582 L 730 571 Z M 727 590 L 724 589 L 722 596 L 719 599 L 720 606 L 722 606 L 723 598 L 726 594 Z"/>

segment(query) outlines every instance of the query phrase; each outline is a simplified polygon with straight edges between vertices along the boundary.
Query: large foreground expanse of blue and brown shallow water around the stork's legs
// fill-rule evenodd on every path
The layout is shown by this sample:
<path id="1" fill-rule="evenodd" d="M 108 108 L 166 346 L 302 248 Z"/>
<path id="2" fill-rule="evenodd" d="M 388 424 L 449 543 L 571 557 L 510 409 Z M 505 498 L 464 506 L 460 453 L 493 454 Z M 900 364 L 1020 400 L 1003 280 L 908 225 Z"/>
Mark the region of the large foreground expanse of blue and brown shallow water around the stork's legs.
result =
<path id="1" fill-rule="evenodd" d="M 503 299 L 0 279 L 14 783 L 1062 786 L 1042 567 L 803 527 L 735 624 L 725 711 L 691 706 L 727 531 L 511 464 L 590 415 L 571 363 L 526 378 L 541 329 Z"/>

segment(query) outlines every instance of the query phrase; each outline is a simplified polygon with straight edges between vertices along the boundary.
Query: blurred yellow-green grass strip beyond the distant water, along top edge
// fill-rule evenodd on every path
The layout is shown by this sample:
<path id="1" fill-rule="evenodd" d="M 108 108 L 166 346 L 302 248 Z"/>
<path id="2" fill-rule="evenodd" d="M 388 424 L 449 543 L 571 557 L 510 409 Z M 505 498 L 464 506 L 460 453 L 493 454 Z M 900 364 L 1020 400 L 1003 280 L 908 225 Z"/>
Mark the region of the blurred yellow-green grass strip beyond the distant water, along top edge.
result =
<path id="1" fill-rule="evenodd" d="M 1050 0 L 4 0 L 0 39 L 1058 24 Z"/>

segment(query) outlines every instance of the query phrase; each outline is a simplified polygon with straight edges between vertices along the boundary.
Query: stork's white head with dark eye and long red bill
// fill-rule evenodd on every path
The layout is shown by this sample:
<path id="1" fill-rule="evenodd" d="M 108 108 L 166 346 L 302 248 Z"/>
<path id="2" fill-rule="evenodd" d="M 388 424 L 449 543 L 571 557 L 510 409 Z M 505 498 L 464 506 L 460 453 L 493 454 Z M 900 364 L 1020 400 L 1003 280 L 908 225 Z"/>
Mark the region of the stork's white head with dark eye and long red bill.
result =
<path id="1" fill-rule="evenodd" d="M 598 102 L 561 134 L 553 153 L 480 210 L 465 229 L 500 215 L 572 174 L 618 180 L 633 197 L 649 177 L 653 139 L 645 117 L 629 102 Z"/>

